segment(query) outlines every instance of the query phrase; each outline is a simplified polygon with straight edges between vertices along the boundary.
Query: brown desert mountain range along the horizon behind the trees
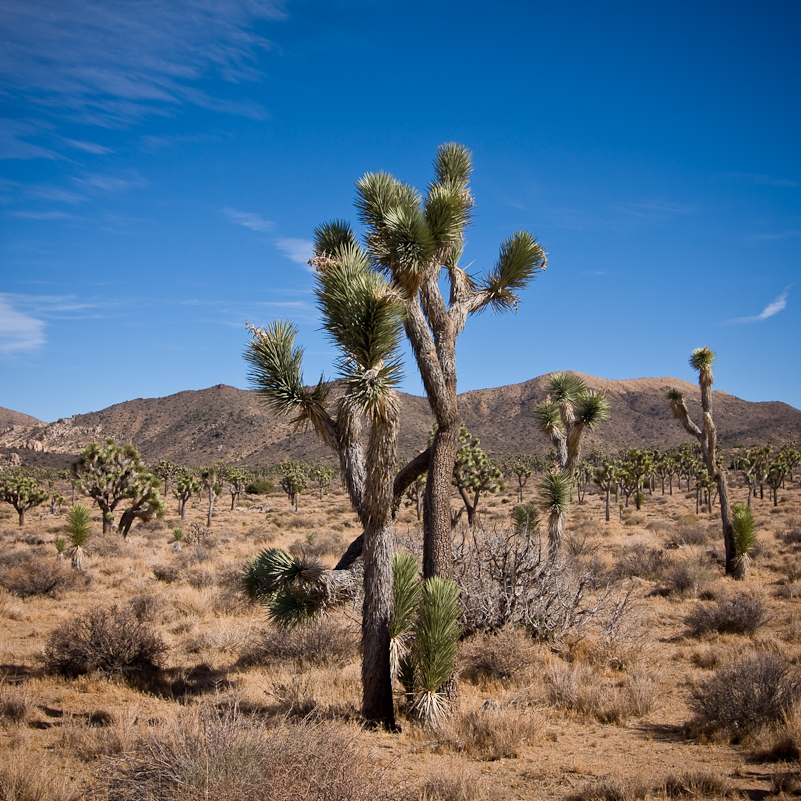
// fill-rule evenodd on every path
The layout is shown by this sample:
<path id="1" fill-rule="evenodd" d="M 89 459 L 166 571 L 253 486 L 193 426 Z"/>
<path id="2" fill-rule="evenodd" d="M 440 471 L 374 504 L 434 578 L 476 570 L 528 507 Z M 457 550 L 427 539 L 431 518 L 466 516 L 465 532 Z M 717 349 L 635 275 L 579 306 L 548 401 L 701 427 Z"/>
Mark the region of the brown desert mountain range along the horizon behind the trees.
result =
<path id="1" fill-rule="evenodd" d="M 614 381 L 577 373 L 588 386 L 607 393 L 611 414 L 586 437 L 585 452 L 628 447 L 670 448 L 687 441 L 665 399 L 669 387 L 687 398 L 700 422 L 698 387 L 673 378 Z M 459 396 L 462 418 L 491 456 L 544 453 L 548 443 L 537 430 L 531 409 L 545 398 L 548 376 Z M 752 403 L 725 392 L 714 393 L 714 417 L 724 447 L 772 441 L 801 442 L 801 411 L 786 403 Z M 425 398 L 402 395 L 400 455 L 424 448 L 433 418 Z M 114 437 L 132 442 L 146 462 L 171 459 L 187 465 L 224 460 L 229 464 L 274 464 L 283 459 L 331 461 L 333 455 L 311 431 L 295 432 L 276 417 L 255 390 L 218 384 L 166 398 L 118 403 L 98 412 L 43 423 L 0 408 L 0 455 L 17 452 L 23 464 L 66 465 L 92 440 Z"/>

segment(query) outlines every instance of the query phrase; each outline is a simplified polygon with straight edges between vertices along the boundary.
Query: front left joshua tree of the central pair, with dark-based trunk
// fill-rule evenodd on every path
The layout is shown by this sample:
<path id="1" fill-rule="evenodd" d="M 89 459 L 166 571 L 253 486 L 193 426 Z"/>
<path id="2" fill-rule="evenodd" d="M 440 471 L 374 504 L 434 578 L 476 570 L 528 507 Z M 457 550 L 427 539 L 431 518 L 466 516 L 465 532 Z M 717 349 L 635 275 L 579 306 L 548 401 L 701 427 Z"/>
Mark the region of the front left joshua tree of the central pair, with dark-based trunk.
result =
<path id="1" fill-rule="evenodd" d="M 393 479 L 403 302 L 358 245 L 345 241 L 323 250 L 320 236 L 317 252 L 326 256 L 316 261 L 318 306 L 323 327 L 341 353 L 337 366 L 344 392 L 333 397 L 322 378 L 313 389 L 304 388 L 303 352 L 295 346 L 296 329 L 290 324 L 251 327 L 245 359 L 251 380 L 272 409 L 294 413 L 298 426 L 310 424 L 339 456 L 345 487 L 364 528 L 362 712 L 368 723 L 391 730 Z"/>

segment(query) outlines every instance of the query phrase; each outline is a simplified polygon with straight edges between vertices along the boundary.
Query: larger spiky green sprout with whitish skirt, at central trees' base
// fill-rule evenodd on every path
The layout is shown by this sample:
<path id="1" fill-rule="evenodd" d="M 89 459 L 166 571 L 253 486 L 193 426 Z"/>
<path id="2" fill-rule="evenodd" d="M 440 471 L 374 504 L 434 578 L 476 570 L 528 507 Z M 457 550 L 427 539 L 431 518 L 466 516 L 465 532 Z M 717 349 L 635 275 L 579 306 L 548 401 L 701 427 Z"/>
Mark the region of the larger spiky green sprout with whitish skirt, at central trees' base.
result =
<path id="1" fill-rule="evenodd" d="M 432 576 L 423 583 L 420 611 L 414 628 L 417 683 L 414 711 L 426 724 L 437 725 L 447 711 L 439 692 L 456 665 L 459 643 L 459 588 L 451 579 Z"/>

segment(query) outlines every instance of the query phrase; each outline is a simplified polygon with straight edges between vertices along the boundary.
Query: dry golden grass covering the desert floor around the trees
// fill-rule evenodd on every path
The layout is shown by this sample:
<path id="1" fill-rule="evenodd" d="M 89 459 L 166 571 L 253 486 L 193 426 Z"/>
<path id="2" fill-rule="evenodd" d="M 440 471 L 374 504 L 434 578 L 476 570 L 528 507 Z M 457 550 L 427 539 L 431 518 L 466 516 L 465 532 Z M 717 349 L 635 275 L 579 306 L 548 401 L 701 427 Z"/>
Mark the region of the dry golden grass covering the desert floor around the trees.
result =
<path id="1" fill-rule="evenodd" d="M 742 489 L 733 486 L 734 500 Z M 533 493 L 527 490 L 524 500 Z M 514 629 L 466 639 L 458 705 L 433 734 L 402 711 L 401 734 L 354 727 L 361 699 L 358 609 L 292 641 L 271 631 L 261 610 L 239 593 L 242 564 L 267 544 L 289 548 L 297 542 L 333 564 L 338 544 L 344 547 L 359 533 L 341 490 L 322 501 L 304 495 L 300 514 L 279 495 L 236 512 L 220 509 L 213 534 L 178 552 L 169 534 L 176 526 L 203 523 L 197 504 L 184 524 L 168 515 L 158 527 L 135 526 L 126 543 L 98 533 L 87 561 L 90 583 L 81 579 L 77 589 L 48 589 L 45 582 L 38 585 L 44 591 L 29 594 L 0 589 L 0 801 L 77 801 L 108 793 L 127 801 L 139 791 L 143 797 L 144 787 L 124 786 L 127 771 L 142 764 L 137 760 L 150 760 L 151 747 L 169 746 L 182 765 L 199 764 L 212 753 L 196 737 L 203 716 L 210 716 L 203 725 L 217 726 L 209 720 L 230 718 L 237 704 L 248 714 L 236 713 L 231 725 L 242 732 L 229 732 L 232 742 L 247 743 L 256 729 L 264 742 L 284 732 L 279 739 L 288 738 L 299 753 L 313 746 L 330 765 L 342 766 L 341 754 L 332 754 L 317 735 L 297 734 L 304 727 L 325 732 L 372 777 L 368 789 L 376 798 L 724 798 L 746 789 L 752 797 L 790 796 L 797 792 L 799 772 L 797 706 L 782 707 L 782 714 L 753 730 L 746 727 L 747 734 L 741 724 L 733 735 L 725 726 L 699 729 L 701 742 L 688 738 L 685 728 L 693 717 L 694 689 L 736 664 L 744 644 L 785 660 L 790 677 L 801 664 L 801 490 L 793 484 L 785 495 L 788 501 L 777 514 L 768 501 L 754 501 L 762 548 L 751 576 L 738 584 L 722 576 L 717 510 L 696 516 L 694 498 L 647 496 L 640 512 L 627 514 L 627 525 L 607 524 L 602 499 L 588 495 L 568 515 L 566 548 L 570 560 L 593 577 L 593 598 L 603 597 L 611 582 L 603 611 L 559 641 L 536 641 Z M 511 498 L 487 506 L 485 527 L 507 525 L 513 504 Z M 402 521 L 399 538 L 419 549 L 414 510 L 403 510 Z M 13 521 L 7 524 L 0 530 L 0 574 L 41 564 L 49 575 L 57 564 L 52 540 L 60 525 L 58 518 L 32 516 L 21 536 Z M 623 568 L 615 572 L 617 565 Z M 63 575 L 73 573 L 67 568 Z M 37 575 L 17 575 L 21 587 L 39 581 Z M 632 578 L 622 582 L 624 575 Z M 615 604 L 628 587 L 632 604 L 615 617 Z M 685 620 L 699 604 L 717 612 L 738 596 L 758 599 L 765 613 L 749 639 L 717 625 L 701 633 L 700 641 L 687 637 Z M 132 684 L 97 672 L 70 679 L 42 671 L 42 652 L 53 632 L 113 604 L 166 644 L 156 676 Z M 340 623 L 347 631 L 339 630 Z M 762 765 L 752 771 L 748 760 L 757 756 Z M 294 757 L 276 759 L 276 765 L 301 770 Z M 228 779 L 222 767 L 197 782 L 182 778 L 181 801 L 201 793 L 234 801 L 256 792 L 269 797 L 269 787 L 240 782 L 252 774 L 232 760 L 225 768 Z M 326 779 L 327 763 L 311 757 L 307 763 L 306 787 L 324 784 L 332 793 L 355 792 L 356 798 L 362 792 Z M 113 791 L 111 777 L 119 785 Z M 276 790 L 291 791 L 290 785 Z M 177 798 L 177 792 L 170 787 L 160 797 Z"/>

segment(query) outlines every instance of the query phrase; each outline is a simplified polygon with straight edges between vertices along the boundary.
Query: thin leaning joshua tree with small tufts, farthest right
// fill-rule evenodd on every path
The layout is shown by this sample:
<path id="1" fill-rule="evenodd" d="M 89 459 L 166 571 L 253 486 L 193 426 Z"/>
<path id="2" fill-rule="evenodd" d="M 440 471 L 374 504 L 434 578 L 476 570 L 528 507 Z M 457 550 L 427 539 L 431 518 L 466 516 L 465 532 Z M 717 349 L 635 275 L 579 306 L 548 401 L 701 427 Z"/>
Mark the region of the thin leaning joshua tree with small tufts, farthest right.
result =
<path id="1" fill-rule="evenodd" d="M 732 513 L 729 507 L 729 486 L 726 481 L 726 472 L 718 465 L 717 442 L 718 434 L 712 420 L 712 364 L 715 361 L 715 352 L 709 348 L 696 348 L 690 356 L 690 366 L 698 371 L 698 384 L 701 387 L 701 410 L 703 419 L 699 428 L 691 419 L 687 411 L 684 396 L 677 389 L 668 390 L 670 410 L 673 416 L 684 426 L 688 434 L 695 437 L 701 444 L 701 455 L 704 460 L 709 478 L 718 488 L 718 501 L 720 502 L 720 519 L 723 526 L 723 544 L 726 549 L 726 575 L 736 579 L 745 578 L 747 560 L 738 557 L 735 544 L 734 528 L 732 526 Z"/>

